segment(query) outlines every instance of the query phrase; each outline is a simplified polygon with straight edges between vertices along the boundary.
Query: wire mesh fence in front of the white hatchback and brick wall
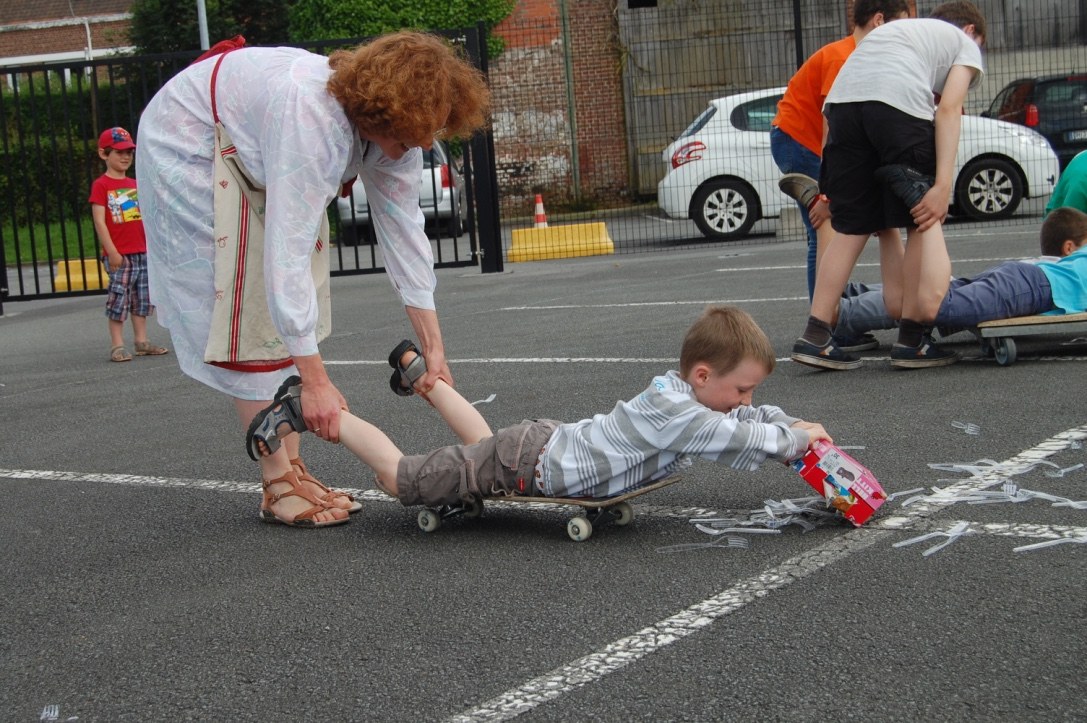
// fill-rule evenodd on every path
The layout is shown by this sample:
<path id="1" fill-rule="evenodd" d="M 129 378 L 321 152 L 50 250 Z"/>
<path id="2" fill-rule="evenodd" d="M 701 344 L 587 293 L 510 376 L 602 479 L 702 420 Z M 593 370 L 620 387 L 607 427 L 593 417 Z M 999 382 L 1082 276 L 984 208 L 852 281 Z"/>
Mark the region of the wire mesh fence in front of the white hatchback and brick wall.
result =
<path id="1" fill-rule="evenodd" d="M 495 142 L 503 228 L 530 225 L 533 195 L 540 192 L 551 225 L 603 222 L 616 253 L 720 242 L 721 237 L 707 236 L 689 219 L 661 211 L 658 184 L 672 170 L 665 149 L 711 100 L 784 87 L 798 60 L 848 32 L 846 0 L 565 4 L 569 17 L 524 20 L 500 28 L 516 40 L 491 61 L 500 101 Z M 917 0 L 917 15 L 927 15 L 936 4 Z M 988 21 L 987 72 L 970 94 L 969 114 L 987 111 L 1015 78 L 1087 73 L 1087 9 L 1079 0 L 977 4 Z M 599 55 L 607 62 L 594 64 Z M 617 100 L 602 107 L 601 98 Z M 779 224 L 777 217 L 780 209 L 789 214 L 795 207 L 776 190 L 777 169 L 770 160 L 766 130 L 774 110 L 773 101 L 755 105 L 730 124 L 736 145 L 727 154 L 734 171 L 722 173 L 738 178 L 735 186 L 753 197 L 752 213 L 760 219 L 747 236 L 732 242 L 765 242 L 775 235 L 798 239 L 802 234 L 799 223 Z M 1082 129 L 1087 135 L 1087 114 Z M 1036 217 L 1045 207 L 1050 174 L 1030 185 L 1016 163 L 1005 164 L 1002 147 L 1020 141 L 1005 138 L 997 124 L 971 122 L 970 133 L 976 155 L 960 159 L 963 172 L 977 183 L 995 172 L 1004 174 L 1002 183 L 1013 197 L 1040 195 L 1015 199 L 1010 222 Z M 594 163 L 616 153 L 622 161 L 594 179 Z M 965 167 L 972 160 L 987 164 Z M 965 175 L 961 182 L 965 194 Z M 700 188 L 690 186 L 687 196 L 697 200 Z M 976 223 L 978 228 L 991 223 L 973 221 L 960 207 L 953 208 L 953 223 Z"/>

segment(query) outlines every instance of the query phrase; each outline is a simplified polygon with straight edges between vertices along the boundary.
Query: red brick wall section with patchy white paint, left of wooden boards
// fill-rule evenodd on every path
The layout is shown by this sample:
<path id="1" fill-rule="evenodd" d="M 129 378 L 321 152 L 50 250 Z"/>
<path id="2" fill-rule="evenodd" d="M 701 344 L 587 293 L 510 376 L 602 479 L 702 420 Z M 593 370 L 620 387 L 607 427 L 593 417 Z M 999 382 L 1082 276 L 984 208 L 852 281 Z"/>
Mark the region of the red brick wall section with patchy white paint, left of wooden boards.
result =
<path id="1" fill-rule="evenodd" d="M 504 212 L 532 213 L 536 194 L 545 196 L 549 209 L 574 204 L 578 197 L 575 158 L 583 201 L 609 205 L 626 196 L 614 5 L 615 0 L 567 2 L 572 89 L 566 82 L 567 48 L 558 0 L 521 0 L 496 28 L 507 43 L 490 66 Z"/>

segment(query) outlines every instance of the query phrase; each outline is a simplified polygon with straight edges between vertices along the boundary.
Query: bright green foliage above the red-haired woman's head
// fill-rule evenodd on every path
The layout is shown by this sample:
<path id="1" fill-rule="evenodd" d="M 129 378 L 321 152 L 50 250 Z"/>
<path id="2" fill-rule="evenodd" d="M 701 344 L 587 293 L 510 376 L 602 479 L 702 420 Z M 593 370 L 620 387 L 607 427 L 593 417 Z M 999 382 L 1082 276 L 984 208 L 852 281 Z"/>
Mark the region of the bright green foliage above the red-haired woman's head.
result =
<path id="1" fill-rule="evenodd" d="M 507 17 L 516 0 L 296 0 L 290 3 L 290 37 L 296 42 L 380 35 L 402 28 L 443 30 L 491 28 Z M 492 36 L 488 49 L 501 49 Z"/>

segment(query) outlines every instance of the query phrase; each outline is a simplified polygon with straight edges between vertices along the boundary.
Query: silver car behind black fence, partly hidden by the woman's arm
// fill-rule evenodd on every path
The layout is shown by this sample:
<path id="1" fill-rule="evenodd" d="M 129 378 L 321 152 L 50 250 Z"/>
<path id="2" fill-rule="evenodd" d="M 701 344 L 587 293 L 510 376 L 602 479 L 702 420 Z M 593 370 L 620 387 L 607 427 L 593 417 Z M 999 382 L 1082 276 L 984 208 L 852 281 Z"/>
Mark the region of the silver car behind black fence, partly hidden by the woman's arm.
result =
<path id="1" fill-rule="evenodd" d="M 418 183 L 418 204 L 427 225 L 440 222 L 451 236 L 464 233 L 467 204 L 464 202 L 464 177 L 462 167 L 454 162 L 449 147 L 434 141 L 430 150 L 423 150 L 423 175 Z M 365 239 L 365 226 L 370 224 L 370 204 L 366 189 L 361 179 L 351 186 L 350 198 L 336 200 L 343 240 L 353 245 Z"/>

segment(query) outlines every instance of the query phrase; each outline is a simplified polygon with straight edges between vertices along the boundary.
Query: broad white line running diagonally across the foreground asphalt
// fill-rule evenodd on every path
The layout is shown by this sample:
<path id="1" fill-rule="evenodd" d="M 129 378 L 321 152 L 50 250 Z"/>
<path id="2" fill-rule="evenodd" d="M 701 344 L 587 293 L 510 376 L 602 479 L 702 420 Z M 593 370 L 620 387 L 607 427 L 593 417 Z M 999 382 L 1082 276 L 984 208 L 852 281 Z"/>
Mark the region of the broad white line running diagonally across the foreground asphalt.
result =
<path id="1" fill-rule="evenodd" d="M 1073 441 L 1087 438 L 1087 425 L 1063 432 L 1016 457 L 996 465 L 985 474 L 959 482 L 949 489 L 971 491 L 985 489 L 1003 481 L 1002 468 L 1022 469 L 1032 461 L 1052 456 L 1072 447 Z M 920 502 L 901 515 L 907 521 L 919 521 L 942 509 L 935 502 Z M 694 635 L 711 625 L 719 618 L 733 613 L 749 602 L 766 597 L 770 593 L 803 579 L 812 573 L 871 547 L 892 534 L 888 528 L 859 527 L 829 543 L 816 546 L 784 563 L 758 575 L 740 581 L 733 587 L 708 600 L 698 602 L 675 615 L 650 625 L 637 633 L 611 643 L 597 652 L 589 653 L 566 665 L 532 678 L 523 685 L 507 690 L 490 700 L 449 720 L 461 723 L 475 721 L 504 721 L 528 712 L 542 703 L 599 681 L 603 676 L 626 668 L 684 637 Z"/>

